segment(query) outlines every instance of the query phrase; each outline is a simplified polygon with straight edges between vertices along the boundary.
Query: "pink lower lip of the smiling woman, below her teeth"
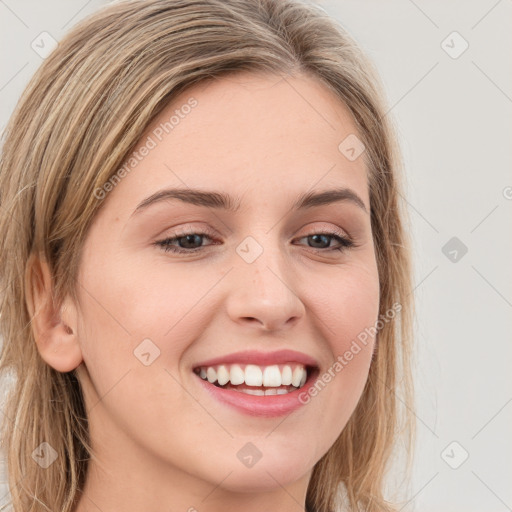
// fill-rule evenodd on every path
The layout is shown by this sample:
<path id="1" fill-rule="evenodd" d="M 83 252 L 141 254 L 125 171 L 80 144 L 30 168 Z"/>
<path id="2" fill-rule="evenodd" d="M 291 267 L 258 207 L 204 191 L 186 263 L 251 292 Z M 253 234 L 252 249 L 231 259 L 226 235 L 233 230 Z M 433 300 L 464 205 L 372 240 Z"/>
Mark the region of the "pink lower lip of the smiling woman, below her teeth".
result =
<path id="1" fill-rule="evenodd" d="M 199 375 L 194 375 L 200 380 L 204 389 L 219 402 L 225 403 L 250 416 L 271 418 L 290 414 L 309 402 L 309 400 L 305 400 L 303 403 L 299 400 L 299 397 L 307 395 L 307 389 L 317 378 L 318 370 L 314 370 L 312 374 L 308 376 L 304 386 L 300 389 L 296 389 L 285 395 L 264 396 L 248 395 L 241 391 L 219 388 L 207 380 L 201 379 Z"/>

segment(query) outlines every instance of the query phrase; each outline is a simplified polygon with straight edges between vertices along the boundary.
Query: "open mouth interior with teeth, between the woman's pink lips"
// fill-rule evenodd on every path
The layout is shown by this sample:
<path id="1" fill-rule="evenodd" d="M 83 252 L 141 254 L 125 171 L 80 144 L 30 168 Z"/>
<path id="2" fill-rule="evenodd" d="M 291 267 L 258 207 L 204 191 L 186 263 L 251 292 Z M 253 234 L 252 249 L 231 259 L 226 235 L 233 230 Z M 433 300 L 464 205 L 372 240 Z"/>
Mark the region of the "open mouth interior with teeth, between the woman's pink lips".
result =
<path id="1" fill-rule="evenodd" d="M 210 384 L 248 395 L 285 395 L 302 388 L 318 369 L 300 363 L 260 366 L 219 364 L 194 368 Z"/>

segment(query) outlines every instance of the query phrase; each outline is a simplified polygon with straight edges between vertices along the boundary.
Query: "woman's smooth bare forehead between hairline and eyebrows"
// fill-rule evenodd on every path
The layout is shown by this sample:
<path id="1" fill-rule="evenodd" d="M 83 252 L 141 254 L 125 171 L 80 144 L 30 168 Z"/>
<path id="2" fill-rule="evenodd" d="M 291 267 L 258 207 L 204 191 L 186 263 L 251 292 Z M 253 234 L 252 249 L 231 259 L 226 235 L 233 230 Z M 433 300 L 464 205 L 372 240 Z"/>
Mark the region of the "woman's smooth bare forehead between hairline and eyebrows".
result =
<path id="1" fill-rule="evenodd" d="M 227 190 L 267 203 L 346 186 L 368 204 L 364 159 L 351 161 L 340 150 L 357 135 L 348 108 L 319 79 L 237 73 L 174 98 L 148 126 L 138 160 L 112 195 L 133 211 L 164 186 Z"/>

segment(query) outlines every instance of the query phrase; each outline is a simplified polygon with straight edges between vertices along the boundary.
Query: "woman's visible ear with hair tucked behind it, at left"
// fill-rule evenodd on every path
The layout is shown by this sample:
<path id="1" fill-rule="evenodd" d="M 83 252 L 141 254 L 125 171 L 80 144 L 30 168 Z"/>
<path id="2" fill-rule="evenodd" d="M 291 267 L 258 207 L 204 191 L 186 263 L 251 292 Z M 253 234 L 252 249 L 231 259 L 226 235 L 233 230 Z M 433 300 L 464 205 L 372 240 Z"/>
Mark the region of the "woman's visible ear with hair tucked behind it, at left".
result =
<path id="1" fill-rule="evenodd" d="M 58 307 L 47 262 L 31 255 L 26 279 L 27 308 L 37 350 L 44 361 L 59 372 L 74 370 L 82 362 L 77 337 L 77 310 L 70 297 Z"/>

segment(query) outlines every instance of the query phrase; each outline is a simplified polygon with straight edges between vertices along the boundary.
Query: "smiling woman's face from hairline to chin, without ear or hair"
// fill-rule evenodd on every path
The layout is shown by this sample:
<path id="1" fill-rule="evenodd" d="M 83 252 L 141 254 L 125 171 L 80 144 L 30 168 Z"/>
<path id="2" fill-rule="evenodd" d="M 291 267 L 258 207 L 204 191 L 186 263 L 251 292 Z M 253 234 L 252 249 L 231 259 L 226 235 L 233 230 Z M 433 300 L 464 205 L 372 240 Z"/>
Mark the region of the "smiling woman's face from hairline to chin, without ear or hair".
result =
<path id="1" fill-rule="evenodd" d="M 353 350 L 379 306 L 357 133 L 315 79 L 247 73 L 188 89 L 149 127 L 80 260 L 78 375 L 102 463 L 210 490 L 309 478 L 374 347 Z M 278 392 L 301 365 L 305 386 Z M 209 382 L 226 375 L 275 394 Z"/>

